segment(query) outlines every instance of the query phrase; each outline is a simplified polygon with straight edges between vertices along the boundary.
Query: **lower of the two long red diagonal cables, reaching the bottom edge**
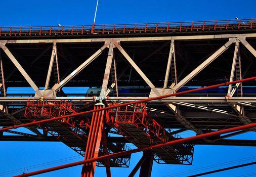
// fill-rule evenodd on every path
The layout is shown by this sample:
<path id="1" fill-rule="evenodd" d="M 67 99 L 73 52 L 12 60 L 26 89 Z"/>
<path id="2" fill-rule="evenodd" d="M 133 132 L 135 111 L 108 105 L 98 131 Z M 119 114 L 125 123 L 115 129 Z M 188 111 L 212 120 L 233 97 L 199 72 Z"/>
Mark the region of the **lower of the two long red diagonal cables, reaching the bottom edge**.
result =
<path id="1" fill-rule="evenodd" d="M 73 162 L 73 163 L 69 163 L 69 164 L 65 164 L 65 165 L 59 165 L 59 166 L 55 166 L 55 167 L 51 167 L 51 168 L 41 169 L 41 170 L 38 170 L 38 171 L 29 172 L 29 173 L 23 173 L 23 174 L 20 174 L 20 175 L 16 175 L 14 177 L 32 176 L 32 175 L 36 175 L 36 174 L 41 174 L 41 173 L 55 171 L 55 170 L 59 170 L 59 169 L 63 169 L 63 168 L 77 166 L 77 165 L 81 165 L 81 164 L 92 163 L 92 162 L 95 162 L 95 161 L 103 161 L 107 158 L 108 159 L 109 158 L 116 158 L 116 157 L 120 157 L 120 156 L 123 156 L 123 155 L 129 155 L 129 154 L 133 154 L 133 153 L 137 153 L 137 152 L 141 152 L 141 151 L 150 151 L 152 149 L 160 148 L 160 147 L 163 147 L 163 146 L 183 144 L 183 143 L 190 142 L 190 141 L 195 141 L 195 140 L 204 139 L 204 138 L 208 138 L 208 137 L 214 137 L 214 136 L 218 136 L 218 135 L 222 135 L 222 134 L 227 134 L 229 132 L 254 128 L 254 127 L 256 127 L 256 123 L 251 123 L 251 124 L 248 124 L 248 125 L 242 125 L 242 126 L 237 126 L 237 127 L 233 127 L 233 128 L 218 130 L 218 131 L 209 132 L 209 133 L 206 133 L 206 134 L 201 134 L 201 135 L 197 135 L 197 136 L 193 136 L 193 137 L 189 137 L 189 138 L 174 140 L 174 141 L 170 141 L 170 142 L 166 142 L 166 143 L 162 143 L 162 144 L 158 144 L 158 145 L 153 145 L 153 146 L 149 146 L 149 147 L 138 148 L 138 149 L 133 149 L 133 150 L 129 150 L 129 151 L 122 151 L 122 152 L 118 152 L 118 153 L 114 153 L 114 154 L 104 155 L 104 156 L 101 156 L 101 157 L 96 157 L 96 158 L 87 159 L 87 160 L 81 160 L 81 161 L 78 161 L 78 162 Z"/>

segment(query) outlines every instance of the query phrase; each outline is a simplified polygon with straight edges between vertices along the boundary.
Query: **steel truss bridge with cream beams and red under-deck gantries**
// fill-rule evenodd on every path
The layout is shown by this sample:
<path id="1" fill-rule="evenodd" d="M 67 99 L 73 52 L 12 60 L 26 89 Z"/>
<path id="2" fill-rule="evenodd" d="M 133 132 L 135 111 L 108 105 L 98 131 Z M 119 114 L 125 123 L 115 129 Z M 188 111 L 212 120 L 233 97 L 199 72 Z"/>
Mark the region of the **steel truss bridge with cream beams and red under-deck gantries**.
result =
<path id="1" fill-rule="evenodd" d="M 182 140 L 187 130 L 204 135 L 256 120 L 254 79 L 122 106 L 255 76 L 256 19 L 0 27 L 0 48 L 0 141 L 63 142 L 87 160 L 130 150 L 127 143 L 143 149 Z M 8 128 L 23 124 L 33 134 Z M 191 165 L 194 145 L 256 146 L 226 139 L 248 131 L 255 128 L 149 149 L 130 176 L 139 168 L 150 176 L 153 160 Z M 97 165 L 111 176 L 110 167 L 129 167 L 130 158 Z M 81 176 L 95 166 L 84 164 Z"/>

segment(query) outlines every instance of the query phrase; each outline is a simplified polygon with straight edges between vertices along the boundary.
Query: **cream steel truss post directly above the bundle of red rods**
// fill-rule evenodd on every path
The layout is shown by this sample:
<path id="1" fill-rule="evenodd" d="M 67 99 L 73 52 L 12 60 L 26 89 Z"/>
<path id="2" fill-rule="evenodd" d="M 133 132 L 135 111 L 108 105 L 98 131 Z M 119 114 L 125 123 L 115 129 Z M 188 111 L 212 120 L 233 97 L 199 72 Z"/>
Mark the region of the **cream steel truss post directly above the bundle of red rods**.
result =
<path id="1" fill-rule="evenodd" d="M 102 82 L 102 89 L 101 89 L 101 93 L 100 93 L 100 98 L 106 97 L 106 90 L 108 87 L 108 79 L 109 79 L 111 64 L 112 64 L 112 60 L 113 60 L 113 47 L 114 47 L 114 43 L 110 42 L 108 58 L 107 58 L 105 73 L 104 73 L 103 82 Z"/>

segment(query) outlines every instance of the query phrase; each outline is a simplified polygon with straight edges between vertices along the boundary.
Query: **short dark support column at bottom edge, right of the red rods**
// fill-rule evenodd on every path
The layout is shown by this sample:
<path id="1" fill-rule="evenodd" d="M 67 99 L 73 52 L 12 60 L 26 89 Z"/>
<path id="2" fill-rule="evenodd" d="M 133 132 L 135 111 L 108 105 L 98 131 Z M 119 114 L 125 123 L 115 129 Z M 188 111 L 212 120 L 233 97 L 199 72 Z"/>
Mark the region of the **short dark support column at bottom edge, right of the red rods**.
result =
<path id="1" fill-rule="evenodd" d="M 144 155 L 145 161 L 141 165 L 140 177 L 150 177 L 153 166 L 154 153 L 151 151 L 145 151 L 143 152 L 143 156 Z"/>

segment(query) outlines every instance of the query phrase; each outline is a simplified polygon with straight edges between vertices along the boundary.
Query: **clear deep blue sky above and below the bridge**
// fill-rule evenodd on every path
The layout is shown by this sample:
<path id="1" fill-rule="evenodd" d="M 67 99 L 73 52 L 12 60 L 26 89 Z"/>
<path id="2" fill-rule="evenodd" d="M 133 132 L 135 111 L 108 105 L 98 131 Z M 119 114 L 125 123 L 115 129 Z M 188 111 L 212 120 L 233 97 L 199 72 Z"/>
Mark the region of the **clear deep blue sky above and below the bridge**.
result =
<path id="1" fill-rule="evenodd" d="M 87 25 L 93 23 L 96 0 L 91 1 L 2 1 L 0 26 L 46 26 L 46 25 Z M 238 17 L 256 18 L 255 1 L 113 1 L 99 0 L 96 24 L 179 22 L 198 20 L 225 20 Z M 21 129 L 23 130 L 23 129 Z M 193 135 L 187 134 L 186 136 Z M 244 134 L 238 138 L 255 139 L 255 133 Z M 61 143 L 37 142 L 0 142 L 0 176 L 11 176 L 18 173 L 2 175 L 3 172 L 24 168 L 35 164 L 77 157 L 70 148 Z M 252 157 L 246 163 L 255 161 L 254 147 L 195 146 L 192 166 L 158 165 L 154 163 L 152 176 L 172 175 L 178 172 L 215 165 L 222 162 Z M 132 155 L 130 168 L 112 168 L 112 176 L 127 176 L 141 157 L 141 153 Z M 32 168 L 34 171 L 63 163 Z M 236 164 L 239 164 L 236 163 Z M 236 165 L 235 164 L 235 165 Z M 222 166 L 227 167 L 227 166 Z M 209 170 L 216 169 L 211 168 Z M 79 176 L 81 166 L 54 171 L 38 176 Z M 206 170 L 207 171 L 207 170 Z M 202 172 L 202 171 L 197 171 Z M 194 174 L 193 172 L 190 174 Z M 243 167 L 211 174 L 208 176 L 239 176 L 255 173 L 255 166 Z M 5 173 L 6 174 L 6 173 Z M 105 176 L 105 168 L 97 168 L 95 176 Z M 186 174 L 176 175 L 186 176 Z M 255 176 L 251 175 L 251 176 Z"/>

